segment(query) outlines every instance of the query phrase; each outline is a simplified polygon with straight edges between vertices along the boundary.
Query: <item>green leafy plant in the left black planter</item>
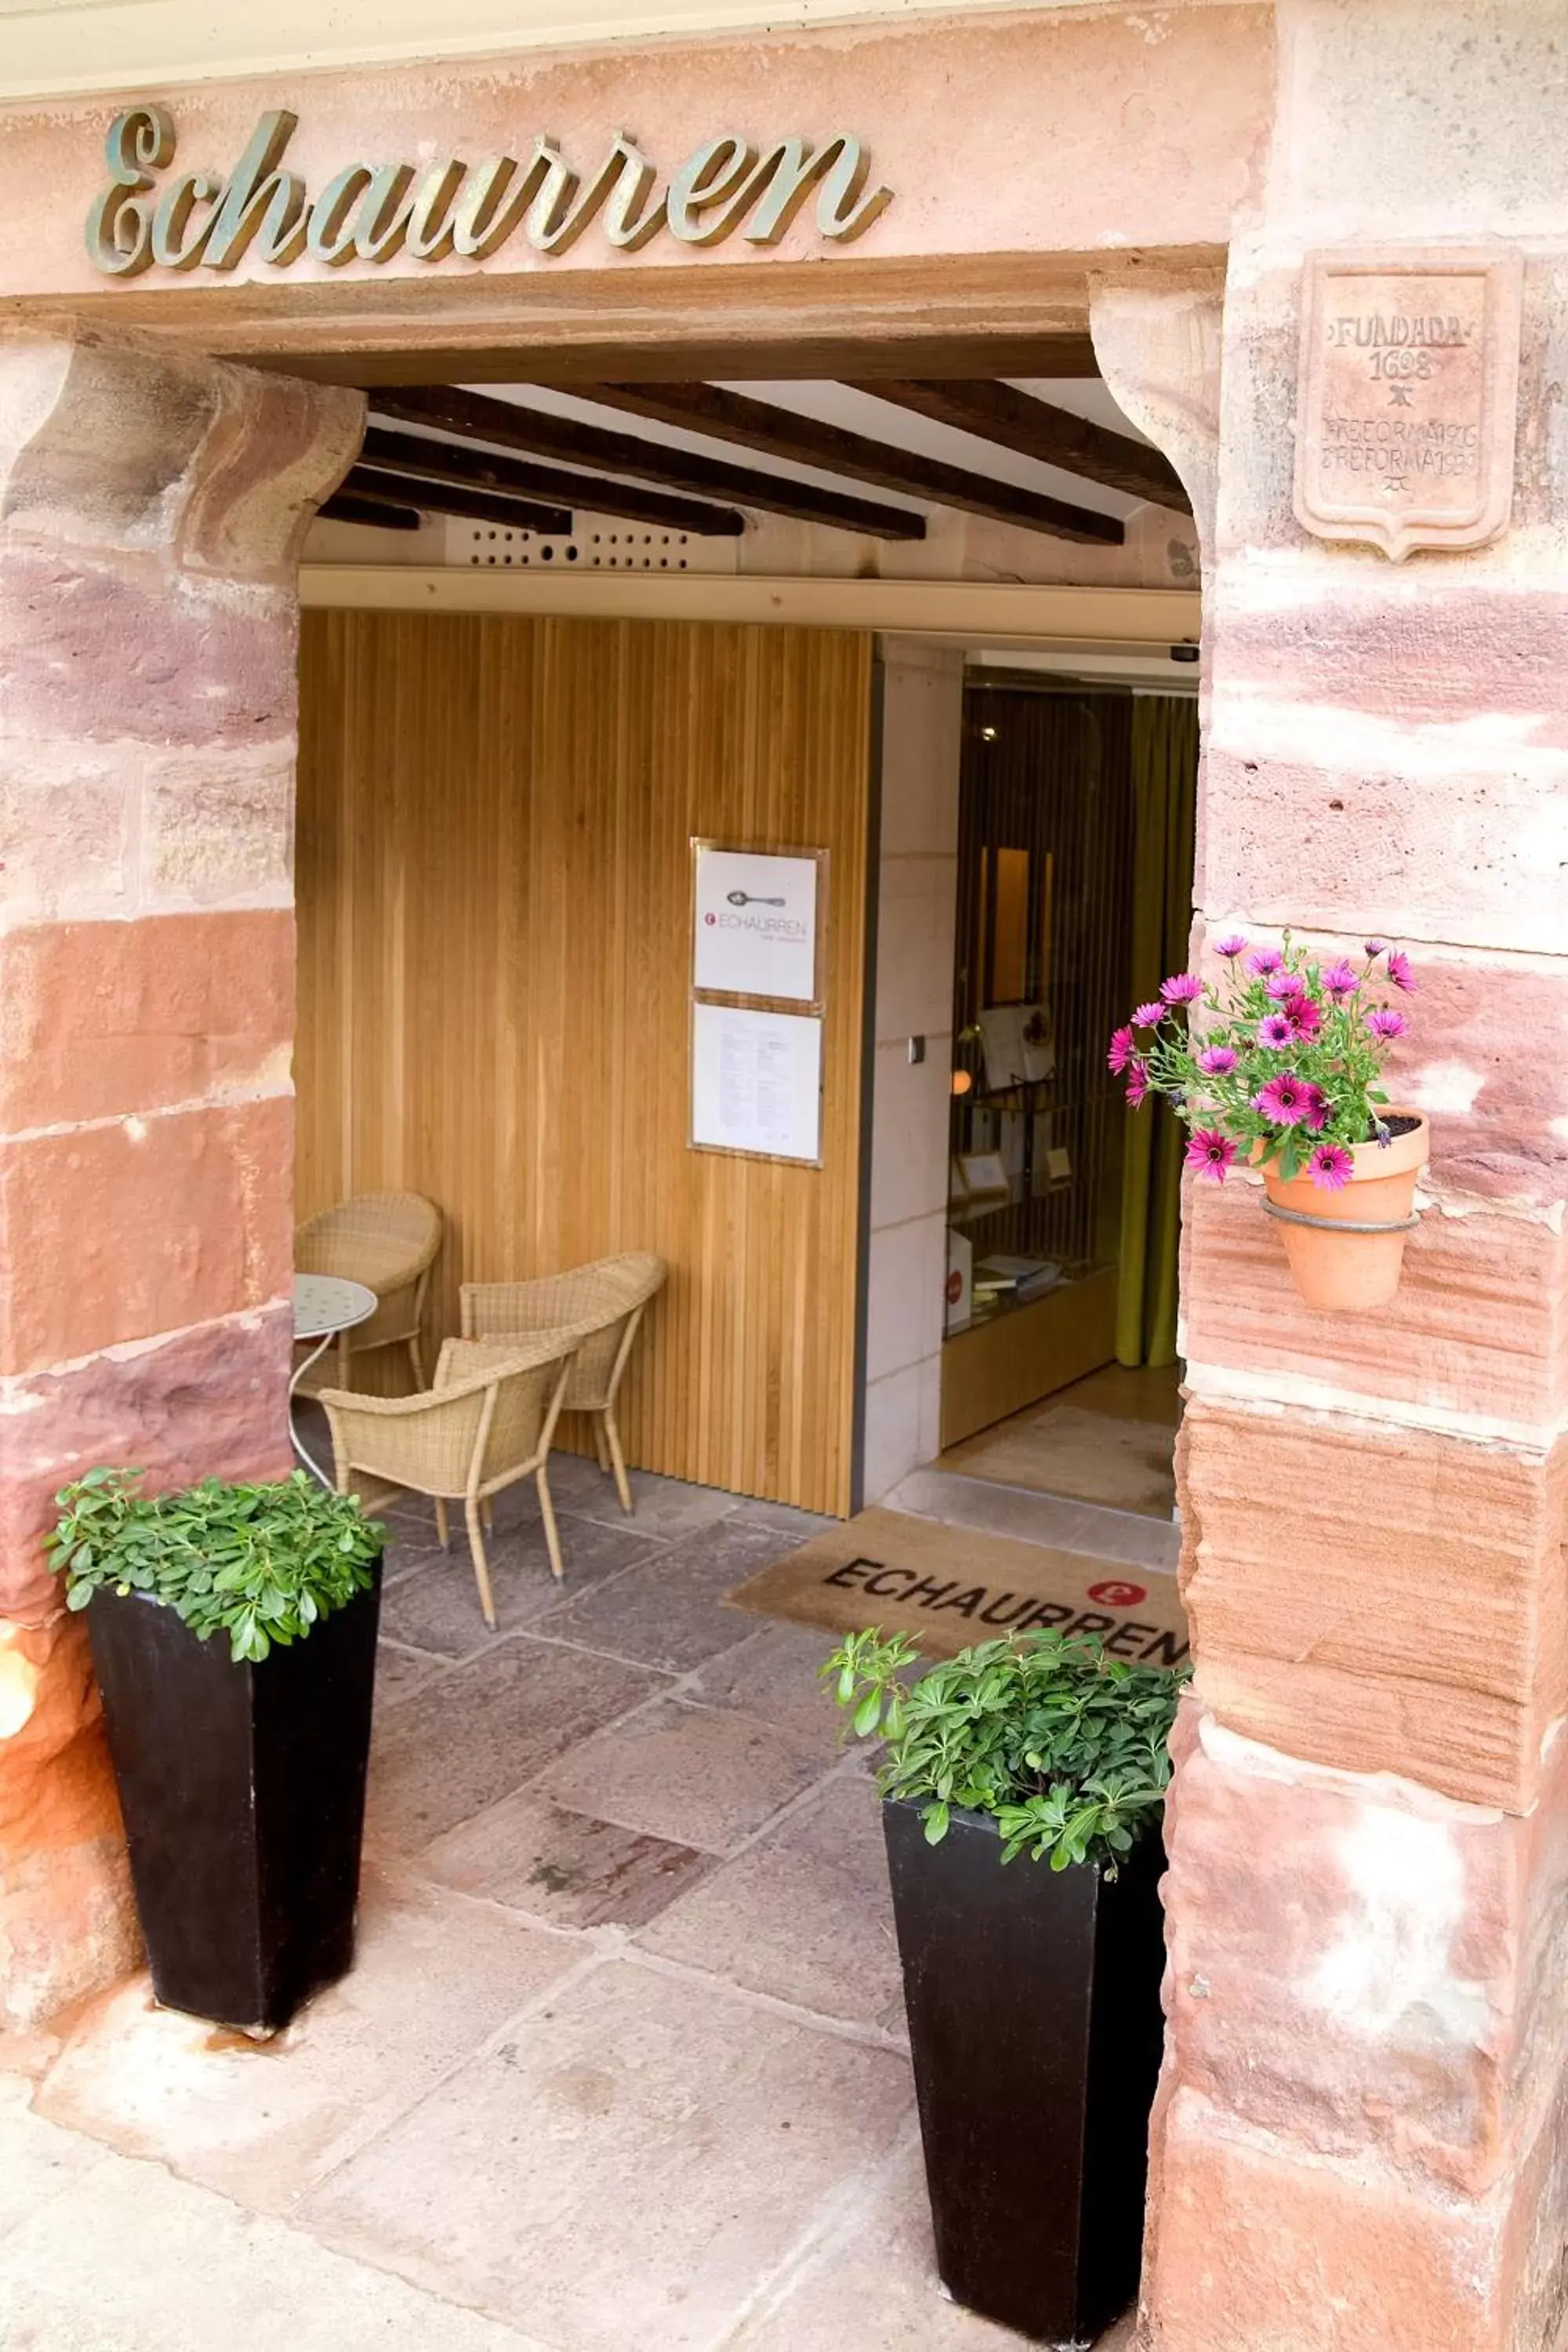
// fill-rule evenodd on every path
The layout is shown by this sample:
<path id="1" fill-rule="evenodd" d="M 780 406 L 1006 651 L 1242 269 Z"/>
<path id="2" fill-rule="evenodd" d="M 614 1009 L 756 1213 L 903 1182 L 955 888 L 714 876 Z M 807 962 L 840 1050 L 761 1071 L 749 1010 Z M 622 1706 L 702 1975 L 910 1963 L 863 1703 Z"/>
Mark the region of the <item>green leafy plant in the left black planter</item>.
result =
<path id="1" fill-rule="evenodd" d="M 89 1470 L 54 1501 L 45 1538 L 66 1606 L 94 1592 L 146 1592 L 202 1642 L 228 1635 L 235 1663 L 303 1639 L 371 1583 L 386 1529 L 353 1494 L 327 1494 L 296 1470 L 268 1486 L 209 1477 L 179 1494 L 141 1494 L 141 1470 Z"/>

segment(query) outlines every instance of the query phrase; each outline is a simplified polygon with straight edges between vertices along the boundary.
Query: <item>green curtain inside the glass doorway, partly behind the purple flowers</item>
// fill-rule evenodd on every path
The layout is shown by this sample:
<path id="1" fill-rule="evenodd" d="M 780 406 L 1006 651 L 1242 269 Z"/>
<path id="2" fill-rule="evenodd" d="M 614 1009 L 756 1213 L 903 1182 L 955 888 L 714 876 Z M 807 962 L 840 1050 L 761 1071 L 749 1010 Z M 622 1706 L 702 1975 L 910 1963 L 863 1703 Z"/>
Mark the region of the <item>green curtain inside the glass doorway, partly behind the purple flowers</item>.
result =
<path id="1" fill-rule="evenodd" d="M 1133 703 L 1133 960 L 1131 1002 L 1187 969 L 1199 774 L 1199 710 L 1187 696 Z M 1117 1362 L 1175 1362 L 1175 1254 L 1185 1136 L 1168 1103 L 1126 1117 Z"/>

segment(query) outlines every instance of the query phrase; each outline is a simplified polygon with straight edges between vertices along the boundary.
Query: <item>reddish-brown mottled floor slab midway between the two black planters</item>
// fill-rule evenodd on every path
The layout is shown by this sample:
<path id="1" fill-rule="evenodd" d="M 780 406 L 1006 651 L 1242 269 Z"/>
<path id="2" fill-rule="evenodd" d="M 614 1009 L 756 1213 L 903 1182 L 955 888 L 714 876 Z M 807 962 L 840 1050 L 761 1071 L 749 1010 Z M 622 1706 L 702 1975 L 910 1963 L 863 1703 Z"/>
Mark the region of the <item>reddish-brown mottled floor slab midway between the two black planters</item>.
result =
<path id="1" fill-rule="evenodd" d="M 524 1788 L 437 1837 L 425 1877 L 550 1926 L 644 1926 L 715 1867 L 710 1853 L 569 1813 Z"/>

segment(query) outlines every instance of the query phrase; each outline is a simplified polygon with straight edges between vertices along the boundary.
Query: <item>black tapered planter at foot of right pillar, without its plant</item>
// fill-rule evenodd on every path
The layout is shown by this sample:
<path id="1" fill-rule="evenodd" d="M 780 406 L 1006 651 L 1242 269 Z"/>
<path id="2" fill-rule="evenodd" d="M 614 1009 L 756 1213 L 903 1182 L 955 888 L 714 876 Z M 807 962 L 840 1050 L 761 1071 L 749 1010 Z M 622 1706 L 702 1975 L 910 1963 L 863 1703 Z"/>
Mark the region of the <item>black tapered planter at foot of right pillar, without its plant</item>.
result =
<path id="1" fill-rule="evenodd" d="M 936 2267 L 971 2312 L 1088 2345 L 1138 2293 L 1166 1865 L 1001 1863 L 994 1820 L 882 1806 Z"/>

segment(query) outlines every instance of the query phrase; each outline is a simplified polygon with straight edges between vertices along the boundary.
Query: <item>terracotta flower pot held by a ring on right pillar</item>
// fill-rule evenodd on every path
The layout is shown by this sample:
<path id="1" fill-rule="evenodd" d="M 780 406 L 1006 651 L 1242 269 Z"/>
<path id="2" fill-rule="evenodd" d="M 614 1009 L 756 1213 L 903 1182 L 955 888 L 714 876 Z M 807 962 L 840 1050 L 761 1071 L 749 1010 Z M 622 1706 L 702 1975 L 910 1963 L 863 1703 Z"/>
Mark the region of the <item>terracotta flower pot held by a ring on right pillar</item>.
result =
<path id="1" fill-rule="evenodd" d="M 1307 1174 L 1286 1183 L 1279 1160 L 1262 1162 L 1265 1192 L 1281 1211 L 1274 1223 L 1291 1275 L 1309 1308 L 1382 1308 L 1399 1289 L 1415 1178 L 1427 1164 L 1427 1120 L 1415 1110 L 1387 1110 L 1385 1117 L 1415 1120 L 1415 1127 L 1389 1145 L 1356 1143 L 1349 1155 L 1354 1174 L 1342 1192 L 1326 1192 Z M 1295 1223 L 1298 1216 L 1312 1223 Z M 1335 1225 L 1349 1230 L 1335 1232 Z M 1356 1225 L 1382 1230 L 1356 1232 Z"/>

